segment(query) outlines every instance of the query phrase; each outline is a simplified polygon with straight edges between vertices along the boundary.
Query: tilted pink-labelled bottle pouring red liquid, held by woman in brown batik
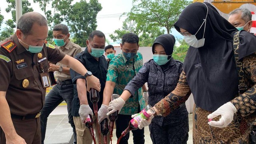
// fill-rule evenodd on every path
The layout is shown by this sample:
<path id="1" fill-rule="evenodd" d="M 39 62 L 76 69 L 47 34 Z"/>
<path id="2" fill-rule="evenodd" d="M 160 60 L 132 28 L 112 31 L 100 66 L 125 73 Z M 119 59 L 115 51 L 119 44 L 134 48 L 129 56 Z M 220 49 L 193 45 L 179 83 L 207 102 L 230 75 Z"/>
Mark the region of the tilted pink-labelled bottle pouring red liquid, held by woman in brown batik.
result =
<path id="1" fill-rule="evenodd" d="M 140 121 L 142 119 L 147 120 L 155 112 L 156 111 L 154 110 L 154 108 L 148 104 L 146 108 L 144 108 L 137 116 L 135 116 L 134 118 L 132 118 L 132 120 L 130 120 L 128 127 L 122 132 L 122 135 L 118 138 L 117 144 L 119 144 L 122 137 L 128 134 L 128 132 L 130 132 L 131 130 L 137 130 L 138 125 L 140 124 Z"/>

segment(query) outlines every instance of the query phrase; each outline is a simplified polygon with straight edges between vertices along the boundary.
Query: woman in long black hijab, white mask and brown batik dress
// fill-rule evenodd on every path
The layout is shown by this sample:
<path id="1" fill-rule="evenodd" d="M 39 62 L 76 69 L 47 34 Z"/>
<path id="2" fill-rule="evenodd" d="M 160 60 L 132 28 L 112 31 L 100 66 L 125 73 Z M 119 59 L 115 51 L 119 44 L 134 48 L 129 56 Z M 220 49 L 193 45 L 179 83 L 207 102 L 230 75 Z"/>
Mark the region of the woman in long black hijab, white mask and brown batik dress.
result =
<path id="1" fill-rule="evenodd" d="M 192 91 L 194 144 L 248 144 L 247 122 L 256 118 L 256 37 L 240 32 L 238 60 L 250 89 L 239 95 L 232 42 L 237 29 L 207 2 L 187 6 L 174 27 L 190 48 L 177 87 L 154 106 L 157 114 L 166 116 Z"/>

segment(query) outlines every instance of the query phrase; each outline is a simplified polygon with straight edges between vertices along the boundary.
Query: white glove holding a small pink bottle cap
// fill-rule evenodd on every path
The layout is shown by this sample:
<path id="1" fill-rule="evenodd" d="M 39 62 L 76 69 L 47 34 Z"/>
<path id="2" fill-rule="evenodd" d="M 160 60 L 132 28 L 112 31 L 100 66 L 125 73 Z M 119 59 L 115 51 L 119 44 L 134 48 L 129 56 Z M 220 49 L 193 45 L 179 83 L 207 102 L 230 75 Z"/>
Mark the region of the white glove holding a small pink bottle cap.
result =
<path id="1" fill-rule="evenodd" d="M 212 114 L 209 114 L 207 117 L 208 119 L 215 118 L 216 116 L 221 115 L 221 118 L 219 121 L 210 121 L 208 124 L 210 126 L 215 126 L 218 128 L 224 128 L 232 122 L 234 113 L 236 113 L 236 107 L 231 103 L 227 102 L 226 104 L 223 104 L 220 106 L 216 111 L 214 111 Z"/>

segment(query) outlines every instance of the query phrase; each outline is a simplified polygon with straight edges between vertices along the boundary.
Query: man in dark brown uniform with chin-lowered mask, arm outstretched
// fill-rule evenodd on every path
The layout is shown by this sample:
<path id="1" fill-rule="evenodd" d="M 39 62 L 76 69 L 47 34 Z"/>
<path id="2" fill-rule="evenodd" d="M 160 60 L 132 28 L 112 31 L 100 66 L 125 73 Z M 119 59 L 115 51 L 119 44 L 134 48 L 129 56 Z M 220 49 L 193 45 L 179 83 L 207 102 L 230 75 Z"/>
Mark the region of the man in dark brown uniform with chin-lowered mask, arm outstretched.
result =
<path id="1" fill-rule="evenodd" d="M 88 71 L 78 60 L 48 48 L 47 37 L 46 18 L 29 12 L 18 20 L 14 35 L 0 42 L 0 144 L 41 144 L 40 110 L 49 86 L 48 61 L 82 75 Z M 87 76 L 86 82 L 88 90 L 100 90 L 95 76 Z"/>

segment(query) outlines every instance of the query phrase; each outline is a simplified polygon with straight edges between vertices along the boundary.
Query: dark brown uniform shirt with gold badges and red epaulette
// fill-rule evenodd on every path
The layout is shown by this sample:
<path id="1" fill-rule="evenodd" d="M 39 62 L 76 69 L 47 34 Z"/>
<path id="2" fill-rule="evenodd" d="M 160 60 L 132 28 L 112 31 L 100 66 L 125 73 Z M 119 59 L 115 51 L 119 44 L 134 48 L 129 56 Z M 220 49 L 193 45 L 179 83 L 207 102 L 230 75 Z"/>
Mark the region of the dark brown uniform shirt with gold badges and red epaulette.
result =
<path id="1" fill-rule="evenodd" d="M 6 92 L 11 114 L 40 112 L 46 93 L 40 74 L 48 73 L 48 61 L 55 64 L 65 54 L 45 45 L 40 53 L 30 53 L 20 44 L 16 33 L 0 45 L 0 91 Z"/>

